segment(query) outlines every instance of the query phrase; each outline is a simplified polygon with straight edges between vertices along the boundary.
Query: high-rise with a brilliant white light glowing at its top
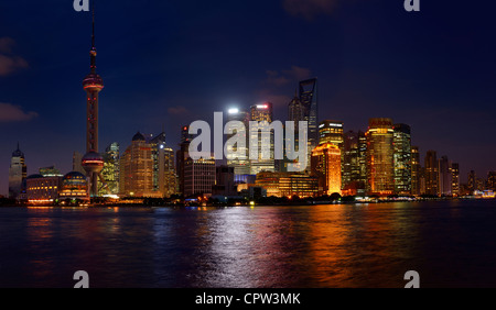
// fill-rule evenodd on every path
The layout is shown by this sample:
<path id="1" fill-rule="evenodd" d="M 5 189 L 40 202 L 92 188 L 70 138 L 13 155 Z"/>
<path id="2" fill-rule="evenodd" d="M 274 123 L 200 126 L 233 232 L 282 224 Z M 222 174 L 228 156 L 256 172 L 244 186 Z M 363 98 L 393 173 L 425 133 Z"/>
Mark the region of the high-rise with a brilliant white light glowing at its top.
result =
<path id="1" fill-rule="evenodd" d="M 249 154 L 248 154 L 248 129 L 249 129 L 249 121 L 250 121 L 250 114 L 246 111 L 241 111 L 237 108 L 231 108 L 227 112 L 227 122 L 231 121 L 238 121 L 244 124 L 240 132 L 234 131 L 230 126 L 228 126 L 229 130 L 233 130 L 233 134 L 228 134 L 226 136 L 227 140 L 231 139 L 235 135 L 242 136 L 245 141 L 245 145 L 238 145 L 235 144 L 233 146 L 228 146 L 227 153 L 226 153 L 226 159 L 227 165 L 229 167 L 234 168 L 235 176 L 242 176 L 242 175 L 249 175 L 250 174 L 250 160 L 249 160 Z M 240 158 L 238 156 L 235 156 L 235 154 L 242 154 L 245 158 Z"/>

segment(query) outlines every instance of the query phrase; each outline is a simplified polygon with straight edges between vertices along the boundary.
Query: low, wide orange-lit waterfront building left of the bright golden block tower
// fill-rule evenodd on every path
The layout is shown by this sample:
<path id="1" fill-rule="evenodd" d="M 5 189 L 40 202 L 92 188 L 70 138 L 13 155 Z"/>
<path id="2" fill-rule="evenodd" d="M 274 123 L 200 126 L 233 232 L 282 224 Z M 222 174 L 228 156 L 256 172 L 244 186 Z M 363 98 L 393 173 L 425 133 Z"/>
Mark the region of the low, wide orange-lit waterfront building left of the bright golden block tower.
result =
<path id="1" fill-rule="evenodd" d="M 319 178 L 304 173 L 271 173 L 257 175 L 256 186 L 267 191 L 267 197 L 316 197 Z"/>

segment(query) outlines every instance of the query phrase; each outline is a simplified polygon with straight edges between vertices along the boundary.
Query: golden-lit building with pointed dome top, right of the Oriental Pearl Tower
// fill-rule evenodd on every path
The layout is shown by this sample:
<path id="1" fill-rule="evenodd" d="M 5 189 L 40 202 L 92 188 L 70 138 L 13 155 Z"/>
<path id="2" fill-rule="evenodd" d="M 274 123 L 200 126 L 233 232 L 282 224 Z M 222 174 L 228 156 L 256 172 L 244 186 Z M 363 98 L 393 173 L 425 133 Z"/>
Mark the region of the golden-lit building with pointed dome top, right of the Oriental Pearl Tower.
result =
<path id="1" fill-rule="evenodd" d="M 152 147 L 139 132 L 120 157 L 119 191 L 123 196 L 158 196 L 153 191 Z"/>

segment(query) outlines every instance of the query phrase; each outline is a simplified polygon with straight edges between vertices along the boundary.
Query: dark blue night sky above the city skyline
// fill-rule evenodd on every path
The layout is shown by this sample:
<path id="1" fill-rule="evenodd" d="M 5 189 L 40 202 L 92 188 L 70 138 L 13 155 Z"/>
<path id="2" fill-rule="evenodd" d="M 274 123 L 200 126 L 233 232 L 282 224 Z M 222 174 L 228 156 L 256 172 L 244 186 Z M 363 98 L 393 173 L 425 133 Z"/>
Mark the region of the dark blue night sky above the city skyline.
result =
<path id="1" fill-rule="evenodd" d="M 496 169 L 494 1 L 97 1 L 100 152 L 137 131 L 176 148 L 180 126 L 214 111 L 274 104 L 319 78 L 320 120 L 412 128 L 412 144 L 479 176 Z M 435 3 L 432 3 L 435 2 Z M 85 152 L 91 14 L 72 0 L 0 0 L 0 195 L 21 145 L 28 174 L 72 169 Z M 423 157 L 423 156 L 422 156 Z"/>

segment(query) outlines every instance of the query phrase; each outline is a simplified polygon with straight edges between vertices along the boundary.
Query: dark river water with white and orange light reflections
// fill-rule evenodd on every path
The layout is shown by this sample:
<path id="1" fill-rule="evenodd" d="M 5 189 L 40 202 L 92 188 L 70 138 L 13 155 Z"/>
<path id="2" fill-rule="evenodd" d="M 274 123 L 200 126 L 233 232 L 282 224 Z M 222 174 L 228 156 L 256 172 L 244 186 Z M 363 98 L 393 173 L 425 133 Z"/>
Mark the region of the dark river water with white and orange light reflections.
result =
<path id="1" fill-rule="evenodd" d="M 1 208 L 0 287 L 496 287 L 496 201 Z"/>

